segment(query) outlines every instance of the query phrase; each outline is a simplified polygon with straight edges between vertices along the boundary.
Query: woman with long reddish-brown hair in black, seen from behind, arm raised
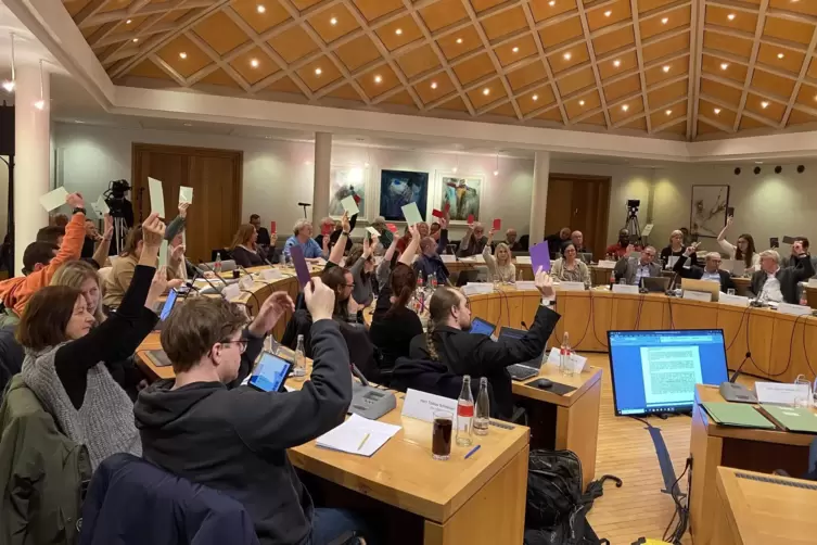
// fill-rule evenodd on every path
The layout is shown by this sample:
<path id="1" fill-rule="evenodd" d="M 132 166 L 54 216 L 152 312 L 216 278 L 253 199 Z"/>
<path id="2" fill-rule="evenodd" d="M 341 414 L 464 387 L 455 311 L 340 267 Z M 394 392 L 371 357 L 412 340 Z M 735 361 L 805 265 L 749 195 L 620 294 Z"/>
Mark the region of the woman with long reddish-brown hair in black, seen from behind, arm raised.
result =
<path id="1" fill-rule="evenodd" d="M 417 230 L 414 226 L 411 229 Z M 369 334 L 383 355 L 382 369 L 392 369 L 398 357 L 407 357 L 411 339 L 423 332 L 420 317 L 408 307 L 417 288 L 417 271 L 411 267 L 411 262 L 419 246 L 420 237 L 412 237 L 392 270 L 392 244 L 378 265 L 378 277 L 382 278 L 385 272 L 386 279 L 381 283 L 383 288 L 380 290 Z"/>

